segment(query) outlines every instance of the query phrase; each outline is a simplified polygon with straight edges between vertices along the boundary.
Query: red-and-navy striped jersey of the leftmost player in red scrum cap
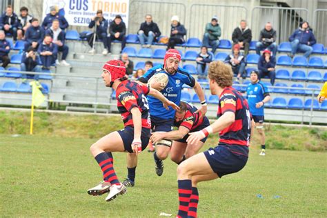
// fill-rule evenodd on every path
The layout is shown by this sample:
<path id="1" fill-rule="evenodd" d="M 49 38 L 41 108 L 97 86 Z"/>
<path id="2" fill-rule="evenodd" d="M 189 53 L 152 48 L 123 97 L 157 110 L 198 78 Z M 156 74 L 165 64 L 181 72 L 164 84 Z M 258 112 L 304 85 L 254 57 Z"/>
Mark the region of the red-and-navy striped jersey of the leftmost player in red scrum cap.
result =
<path id="1" fill-rule="evenodd" d="M 118 85 L 116 90 L 117 108 L 125 127 L 133 126 L 130 110 L 137 107 L 141 112 L 142 127 L 151 128 L 148 99 L 146 99 L 149 92 L 148 87 L 141 86 L 134 81 L 125 80 Z"/>

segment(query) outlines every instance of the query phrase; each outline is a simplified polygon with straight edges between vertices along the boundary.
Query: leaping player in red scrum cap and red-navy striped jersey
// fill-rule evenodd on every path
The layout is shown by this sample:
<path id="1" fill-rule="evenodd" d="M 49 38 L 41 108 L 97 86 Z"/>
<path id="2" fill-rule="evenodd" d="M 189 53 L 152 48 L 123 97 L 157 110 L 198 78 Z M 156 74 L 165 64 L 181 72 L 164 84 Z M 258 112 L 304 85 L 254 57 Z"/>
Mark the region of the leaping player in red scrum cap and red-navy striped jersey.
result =
<path id="1" fill-rule="evenodd" d="M 174 110 L 178 110 L 179 107 L 166 99 L 159 91 L 142 86 L 135 81 L 128 81 L 126 68 L 119 60 L 106 62 L 102 70 L 101 77 L 106 87 L 116 91 L 117 108 L 124 128 L 110 132 L 90 146 L 90 152 L 103 172 L 103 181 L 90 188 L 88 194 L 98 196 L 109 192 L 106 201 L 111 201 L 126 193 L 126 186 L 116 175 L 112 152 L 128 152 L 136 156 L 148 146 L 151 123 L 146 96 L 151 95 L 159 99 L 167 109 L 168 106 Z"/>

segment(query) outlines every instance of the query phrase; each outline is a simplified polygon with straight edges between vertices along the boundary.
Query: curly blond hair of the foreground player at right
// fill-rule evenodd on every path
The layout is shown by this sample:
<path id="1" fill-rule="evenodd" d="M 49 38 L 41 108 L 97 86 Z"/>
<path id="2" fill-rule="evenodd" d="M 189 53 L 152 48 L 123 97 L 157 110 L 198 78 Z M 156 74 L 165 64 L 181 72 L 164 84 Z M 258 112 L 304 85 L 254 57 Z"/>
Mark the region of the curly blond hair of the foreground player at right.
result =
<path id="1" fill-rule="evenodd" d="M 232 67 L 221 61 L 212 61 L 208 70 L 209 79 L 216 81 L 219 87 L 232 86 Z"/>

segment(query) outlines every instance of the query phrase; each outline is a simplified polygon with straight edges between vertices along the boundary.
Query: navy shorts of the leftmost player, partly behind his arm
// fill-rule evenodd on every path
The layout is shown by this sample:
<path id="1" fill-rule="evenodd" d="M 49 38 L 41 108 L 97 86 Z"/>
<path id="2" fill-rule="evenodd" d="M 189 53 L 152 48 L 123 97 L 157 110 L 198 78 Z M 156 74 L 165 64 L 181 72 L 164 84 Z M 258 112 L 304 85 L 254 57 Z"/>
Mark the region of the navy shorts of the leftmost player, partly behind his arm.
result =
<path id="1" fill-rule="evenodd" d="M 134 128 L 132 128 L 131 126 L 126 126 L 126 128 L 119 130 L 117 132 L 121 136 L 121 139 L 123 139 L 123 147 L 125 148 L 125 151 L 132 153 Z M 142 128 L 142 133 L 141 133 L 142 150 L 146 149 L 146 146 L 148 146 L 149 139 L 150 139 L 150 129 Z"/>

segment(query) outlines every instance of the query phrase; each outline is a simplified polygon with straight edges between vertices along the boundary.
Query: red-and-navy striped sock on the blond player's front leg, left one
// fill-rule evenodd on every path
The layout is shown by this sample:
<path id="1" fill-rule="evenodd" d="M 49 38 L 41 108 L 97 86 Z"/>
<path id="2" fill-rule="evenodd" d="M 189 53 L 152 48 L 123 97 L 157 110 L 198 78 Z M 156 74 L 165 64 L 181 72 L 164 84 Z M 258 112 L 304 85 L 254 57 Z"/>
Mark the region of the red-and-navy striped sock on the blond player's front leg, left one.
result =
<path id="1" fill-rule="evenodd" d="M 190 179 L 178 180 L 179 208 L 177 217 L 188 217 L 188 203 L 192 194 L 192 181 Z"/>

